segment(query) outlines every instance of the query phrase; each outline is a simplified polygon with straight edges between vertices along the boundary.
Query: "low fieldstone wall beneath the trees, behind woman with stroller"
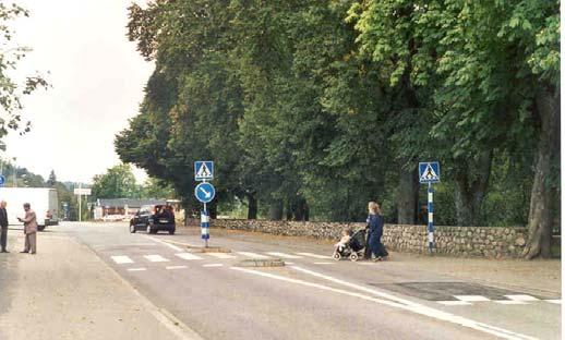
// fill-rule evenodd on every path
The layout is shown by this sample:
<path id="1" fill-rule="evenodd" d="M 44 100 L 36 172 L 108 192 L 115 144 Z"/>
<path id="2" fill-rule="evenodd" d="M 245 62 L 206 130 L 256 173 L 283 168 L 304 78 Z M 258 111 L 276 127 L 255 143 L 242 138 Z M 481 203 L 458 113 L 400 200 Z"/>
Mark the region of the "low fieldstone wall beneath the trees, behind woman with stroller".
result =
<path id="1" fill-rule="evenodd" d="M 344 229 L 363 229 L 365 223 L 294 222 L 268 220 L 216 219 L 216 228 L 264 232 L 318 240 L 339 240 Z M 526 228 L 435 227 L 435 252 L 452 256 L 488 258 L 519 257 L 526 244 Z M 426 253 L 424 226 L 385 224 L 383 243 L 387 250 Z"/>

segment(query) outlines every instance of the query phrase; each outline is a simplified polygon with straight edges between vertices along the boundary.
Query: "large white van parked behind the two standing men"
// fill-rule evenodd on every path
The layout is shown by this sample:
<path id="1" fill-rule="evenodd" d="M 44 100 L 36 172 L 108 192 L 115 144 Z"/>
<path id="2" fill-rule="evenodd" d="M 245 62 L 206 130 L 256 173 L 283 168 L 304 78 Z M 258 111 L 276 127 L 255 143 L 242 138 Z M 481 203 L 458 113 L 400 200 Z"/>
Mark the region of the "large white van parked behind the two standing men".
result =
<path id="1" fill-rule="evenodd" d="M 17 217 L 24 217 L 24 203 L 29 203 L 37 216 L 39 230 L 59 223 L 59 198 L 50 187 L 0 187 L 0 199 L 7 202 L 8 223 L 23 226 Z"/>

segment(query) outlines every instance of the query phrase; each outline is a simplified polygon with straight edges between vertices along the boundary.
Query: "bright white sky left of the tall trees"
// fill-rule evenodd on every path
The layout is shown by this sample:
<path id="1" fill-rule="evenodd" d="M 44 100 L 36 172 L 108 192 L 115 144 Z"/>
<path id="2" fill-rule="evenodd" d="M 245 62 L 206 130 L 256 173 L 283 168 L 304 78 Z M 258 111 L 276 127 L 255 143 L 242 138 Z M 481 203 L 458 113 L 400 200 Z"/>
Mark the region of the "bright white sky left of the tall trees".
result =
<path id="1" fill-rule="evenodd" d="M 32 131 L 11 133 L 0 155 L 45 179 L 53 170 L 59 181 L 92 182 L 119 163 L 113 136 L 137 114 L 154 69 L 125 36 L 131 0 L 17 3 L 31 15 L 13 23 L 15 41 L 33 51 L 16 74 L 39 71 L 52 87 L 24 97 L 21 113 Z"/>

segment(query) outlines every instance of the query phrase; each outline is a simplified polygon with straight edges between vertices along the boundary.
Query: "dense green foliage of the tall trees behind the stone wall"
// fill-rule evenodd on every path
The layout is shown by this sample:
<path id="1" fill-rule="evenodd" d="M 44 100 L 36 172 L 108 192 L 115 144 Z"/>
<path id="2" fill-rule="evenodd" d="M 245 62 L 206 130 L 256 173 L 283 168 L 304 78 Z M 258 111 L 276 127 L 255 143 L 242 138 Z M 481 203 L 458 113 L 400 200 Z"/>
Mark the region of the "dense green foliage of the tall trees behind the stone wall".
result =
<path id="1" fill-rule="evenodd" d="M 128 27 L 156 70 L 116 149 L 187 206 L 213 159 L 224 211 L 394 222 L 400 172 L 437 159 L 440 223 L 526 222 L 557 1 L 149 1 Z"/>

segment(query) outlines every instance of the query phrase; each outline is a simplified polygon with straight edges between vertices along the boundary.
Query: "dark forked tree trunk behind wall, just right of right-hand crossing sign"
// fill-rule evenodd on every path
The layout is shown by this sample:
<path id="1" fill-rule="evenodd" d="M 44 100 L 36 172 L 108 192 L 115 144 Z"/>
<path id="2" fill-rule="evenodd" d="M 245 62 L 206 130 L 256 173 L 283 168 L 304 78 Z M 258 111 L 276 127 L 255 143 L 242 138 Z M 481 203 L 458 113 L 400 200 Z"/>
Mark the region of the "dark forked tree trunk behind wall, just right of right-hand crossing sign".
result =
<path id="1" fill-rule="evenodd" d="M 477 167 L 462 163 L 455 172 L 455 209 L 458 226 L 479 224 L 481 206 L 491 175 L 492 154 L 492 150 L 483 151 L 479 156 Z"/>

